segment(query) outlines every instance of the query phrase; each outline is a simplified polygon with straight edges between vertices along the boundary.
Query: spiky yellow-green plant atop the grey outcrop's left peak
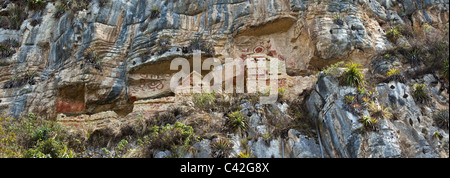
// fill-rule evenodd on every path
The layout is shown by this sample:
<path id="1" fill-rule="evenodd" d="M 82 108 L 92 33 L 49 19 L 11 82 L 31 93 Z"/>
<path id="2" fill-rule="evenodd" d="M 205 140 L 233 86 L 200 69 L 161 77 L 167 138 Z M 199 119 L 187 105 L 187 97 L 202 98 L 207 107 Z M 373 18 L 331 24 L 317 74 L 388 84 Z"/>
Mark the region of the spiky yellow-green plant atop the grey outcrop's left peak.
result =
<path id="1" fill-rule="evenodd" d="M 364 74 L 362 73 L 361 65 L 356 63 L 348 63 L 347 68 L 342 77 L 344 82 L 352 87 L 362 87 L 365 84 Z"/>

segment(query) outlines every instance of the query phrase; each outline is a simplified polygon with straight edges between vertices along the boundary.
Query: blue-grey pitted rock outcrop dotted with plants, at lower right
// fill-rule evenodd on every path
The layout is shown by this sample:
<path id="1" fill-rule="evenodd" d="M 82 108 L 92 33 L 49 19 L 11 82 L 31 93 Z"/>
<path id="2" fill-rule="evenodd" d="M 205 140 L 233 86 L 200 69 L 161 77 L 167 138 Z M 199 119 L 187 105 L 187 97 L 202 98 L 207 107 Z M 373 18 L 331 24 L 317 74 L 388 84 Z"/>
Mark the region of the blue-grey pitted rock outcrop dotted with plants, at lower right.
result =
<path id="1" fill-rule="evenodd" d="M 446 154 L 430 138 L 430 130 L 436 129 L 429 118 L 432 114 L 421 112 L 409 87 L 403 83 L 377 86 L 378 102 L 390 106 L 395 117 L 382 119 L 377 131 L 365 130 L 359 121 L 361 116 L 344 109 L 344 95 L 353 93 L 351 89 L 319 75 L 316 91 L 309 97 L 307 103 L 312 107 L 308 109 L 320 123 L 322 143 L 330 157 L 441 157 Z M 368 111 L 363 113 L 369 115 Z"/>

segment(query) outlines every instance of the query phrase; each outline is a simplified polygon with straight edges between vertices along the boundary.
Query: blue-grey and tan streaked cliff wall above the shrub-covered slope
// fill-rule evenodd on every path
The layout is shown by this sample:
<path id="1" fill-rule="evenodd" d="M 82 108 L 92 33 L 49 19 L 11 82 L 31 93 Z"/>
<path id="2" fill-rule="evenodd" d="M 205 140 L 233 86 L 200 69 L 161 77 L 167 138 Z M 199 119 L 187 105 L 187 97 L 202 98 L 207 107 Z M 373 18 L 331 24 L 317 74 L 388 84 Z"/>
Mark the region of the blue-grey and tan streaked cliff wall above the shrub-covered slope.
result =
<path id="1" fill-rule="evenodd" d="M 0 111 L 73 123 L 165 111 L 178 100 L 170 61 L 192 59 L 196 39 L 221 61 L 285 61 L 286 87 L 298 94 L 336 61 L 369 64 L 394 45 L 391 27 L 440 29 L 449 19 L 448 0 L 92 0 L 60 17 L 62 2 L 46 2 L 24 8 L 19 28 L 0 28 L 0 42 L 18 42 L 0 56 Z M 17 6 L 0 5 L 4 17 Z"/>

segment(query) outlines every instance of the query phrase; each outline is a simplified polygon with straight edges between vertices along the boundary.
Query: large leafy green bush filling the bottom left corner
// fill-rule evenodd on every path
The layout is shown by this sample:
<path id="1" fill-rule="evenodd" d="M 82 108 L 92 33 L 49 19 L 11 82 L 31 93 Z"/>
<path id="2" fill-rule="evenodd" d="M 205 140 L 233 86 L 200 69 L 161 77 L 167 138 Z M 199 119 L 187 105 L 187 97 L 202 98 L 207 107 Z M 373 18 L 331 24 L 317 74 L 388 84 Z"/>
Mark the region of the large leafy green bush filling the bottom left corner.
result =
<path id="1" fill-rule="evenodd" d="M 64 129 L 33 113 L 20 119 L 0 117 L 0 157 L 72 158 Z"/>

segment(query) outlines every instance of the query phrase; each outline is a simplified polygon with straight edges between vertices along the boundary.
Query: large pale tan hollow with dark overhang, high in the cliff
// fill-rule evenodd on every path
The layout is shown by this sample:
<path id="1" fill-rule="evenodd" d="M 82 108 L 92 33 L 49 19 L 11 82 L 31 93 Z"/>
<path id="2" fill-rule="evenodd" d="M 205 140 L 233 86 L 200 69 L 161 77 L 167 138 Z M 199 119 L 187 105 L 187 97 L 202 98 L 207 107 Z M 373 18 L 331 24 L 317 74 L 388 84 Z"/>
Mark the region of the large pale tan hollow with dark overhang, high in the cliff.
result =
<path id="1" fill-rule="evenodd" d="M 283 21 L 283 20 L 282 20 Z M 314 56 L 314 48 L 301 22 L 284 20 L 282 26 L 267 23 L 253 29 L 274 28 L 280 31 L 253 33 L 246 30 L 233 39 L 232 56 L 247 59 L 254 54 L 277 58 L 285 65 L 287 74 L 301 76 L 309 72 L 309 63 Z M 280 22 L 281 23 L 281 22 Z"/>

